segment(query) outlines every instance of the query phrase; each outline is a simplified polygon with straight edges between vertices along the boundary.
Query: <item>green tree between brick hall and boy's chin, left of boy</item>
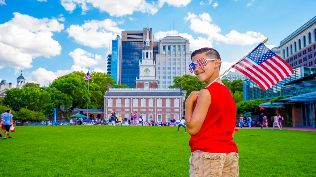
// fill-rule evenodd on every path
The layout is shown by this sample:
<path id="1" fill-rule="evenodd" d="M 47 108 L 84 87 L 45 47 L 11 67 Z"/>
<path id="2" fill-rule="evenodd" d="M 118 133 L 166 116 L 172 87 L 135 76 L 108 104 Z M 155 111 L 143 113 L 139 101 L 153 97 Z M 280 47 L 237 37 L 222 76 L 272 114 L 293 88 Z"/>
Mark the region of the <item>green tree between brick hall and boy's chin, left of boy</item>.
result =
<path id="1" fill-rule="evenodd" d="M 186 90 L 185 99 L 190 95 L 192 91 L 200 91 L 204 87 L 206 87 L 205 83 L 202 83 L 198 80 L 197 77 L 192 75 L 183 75 L 182 77 L 174 77 L 174 84 L 169 86 L 170 88 L 180 87 L 180 83 L 182 83 L 182 89 Z"/>

